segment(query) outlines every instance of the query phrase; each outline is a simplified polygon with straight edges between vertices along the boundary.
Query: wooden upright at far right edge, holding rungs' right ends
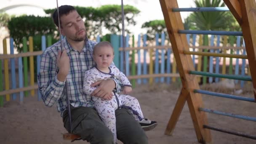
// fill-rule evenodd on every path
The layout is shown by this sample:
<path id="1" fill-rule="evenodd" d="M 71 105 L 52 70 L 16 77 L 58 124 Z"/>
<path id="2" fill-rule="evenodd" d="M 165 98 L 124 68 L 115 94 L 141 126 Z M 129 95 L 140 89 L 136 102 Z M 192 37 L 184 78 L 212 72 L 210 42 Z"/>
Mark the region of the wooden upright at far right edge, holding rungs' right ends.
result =
<path id="1" fill-rule="evenodd" d="M 242 9 L 243 37 L 248 63 L 253 82 L 253 93 L 256 99 L 256 2 L 255 0 L 239 0 Z"/>

